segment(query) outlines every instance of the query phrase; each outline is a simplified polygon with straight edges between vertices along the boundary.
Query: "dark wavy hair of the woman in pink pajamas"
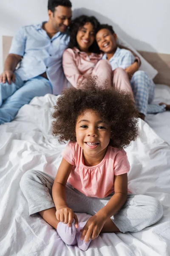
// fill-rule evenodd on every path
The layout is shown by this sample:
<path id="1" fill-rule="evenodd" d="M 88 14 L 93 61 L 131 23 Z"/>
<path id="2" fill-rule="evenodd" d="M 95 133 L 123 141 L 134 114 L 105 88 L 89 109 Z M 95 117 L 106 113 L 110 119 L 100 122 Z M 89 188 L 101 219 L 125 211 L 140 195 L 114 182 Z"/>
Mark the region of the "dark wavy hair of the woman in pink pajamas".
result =
<path id="1" fill-rule="evenodd" d="M 70 25 L 70 42 L 68 44 L 68 48 L 73 49 L 74 47 L 77 47 L 79 49 L 76 39 L 77 32 L 87 22 L 90 22 L 93 25 L 94 32 L 96 33 L 96 30 L 99 26 L 99 21 L 94 16 L 81 15 L 75 18 L 72 20 Z M 89 47 L 89 52 L 100 53 L 96 40 L 94 40 L 94 43 L 91 45 L 91 47 Z"/>

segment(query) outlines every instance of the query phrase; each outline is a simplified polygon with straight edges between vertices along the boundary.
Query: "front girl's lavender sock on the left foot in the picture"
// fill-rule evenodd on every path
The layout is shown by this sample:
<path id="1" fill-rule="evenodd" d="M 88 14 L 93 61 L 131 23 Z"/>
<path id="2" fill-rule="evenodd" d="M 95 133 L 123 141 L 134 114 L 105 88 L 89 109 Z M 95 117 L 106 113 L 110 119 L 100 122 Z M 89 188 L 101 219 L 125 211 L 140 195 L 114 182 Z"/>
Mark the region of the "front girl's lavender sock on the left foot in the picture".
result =
<path id="1" fill-rule="evenodd" d="M 76 227 L 75 227 L 75 220 L 73 220 L 71 227 L 68 227 L 67 224 L 63 222 L 59 222 L 57 225 L 57 233 L 61 237 L 62 241 L 68 245 L 75 245 L 77 244 L 76 239 Z"/>

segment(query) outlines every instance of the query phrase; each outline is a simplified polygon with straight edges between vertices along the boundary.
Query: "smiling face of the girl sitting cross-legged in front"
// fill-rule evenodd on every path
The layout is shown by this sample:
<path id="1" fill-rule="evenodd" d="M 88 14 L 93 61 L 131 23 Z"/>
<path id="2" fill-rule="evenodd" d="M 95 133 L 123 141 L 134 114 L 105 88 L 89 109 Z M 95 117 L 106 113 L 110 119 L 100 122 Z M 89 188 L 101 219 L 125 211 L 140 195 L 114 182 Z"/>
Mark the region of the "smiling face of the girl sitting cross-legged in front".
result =
<path id="1" fill-rule="evenodd" d="M 99 113 L 88 109 L 77 118 L 77 143 L 83 149 L 84 156 L 103 157 L 111 138 L 111 129 L 102 120 Z"/>

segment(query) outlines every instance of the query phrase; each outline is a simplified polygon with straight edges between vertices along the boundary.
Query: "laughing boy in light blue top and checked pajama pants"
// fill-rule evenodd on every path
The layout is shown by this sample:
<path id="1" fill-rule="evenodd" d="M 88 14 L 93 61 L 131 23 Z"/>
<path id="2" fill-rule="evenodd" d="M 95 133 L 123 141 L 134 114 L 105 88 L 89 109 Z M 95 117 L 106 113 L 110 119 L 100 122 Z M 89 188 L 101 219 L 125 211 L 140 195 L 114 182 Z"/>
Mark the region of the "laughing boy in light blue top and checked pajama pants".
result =
<path id="1" fill-rule="evenodd" d="M 133 72 L 130 65 L 133 64 L 135 57 L 127 49 L 120 49 L 117 45 L 117 35 L 112 26 L 100 24 L 96 33 L 96 41 L 102 52 L 103 60 L 108 60 L 113 72 L 122 68 L 127 72 L 130 79 L 130 85 L 136 107 L 139 110 L 139 116 L 144 120 L 147 113 L 160 113 L 170 111 L 170 105 L 165 103 L 154 104 L 155 84 L 149 78 L 146 72 L 138 70 Z M 130 73 L 129 73 L 129 70 Z"/>

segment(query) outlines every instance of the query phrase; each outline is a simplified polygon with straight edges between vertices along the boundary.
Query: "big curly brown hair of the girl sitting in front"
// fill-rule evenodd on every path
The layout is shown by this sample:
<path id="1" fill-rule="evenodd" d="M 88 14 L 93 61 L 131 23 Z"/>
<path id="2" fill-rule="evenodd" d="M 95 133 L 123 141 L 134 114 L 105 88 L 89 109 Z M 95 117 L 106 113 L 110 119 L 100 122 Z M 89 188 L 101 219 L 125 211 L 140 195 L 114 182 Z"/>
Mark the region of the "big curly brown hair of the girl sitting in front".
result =
<path id="1" fill-rule="evenodd" d="M 130 93 L 101 86 L 96 78 L 88 78 L 81 89 L 65 89 L 52 114 L 52 134 L 59 143 L 76 142 L 77 118 L 84 111 L 96 111 L 111 128 L 109 145 L 122 148 L 138 136 L 138 111 Z"/>

